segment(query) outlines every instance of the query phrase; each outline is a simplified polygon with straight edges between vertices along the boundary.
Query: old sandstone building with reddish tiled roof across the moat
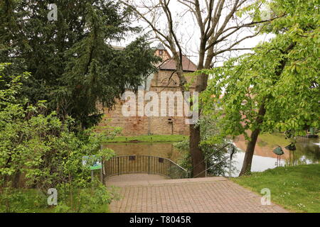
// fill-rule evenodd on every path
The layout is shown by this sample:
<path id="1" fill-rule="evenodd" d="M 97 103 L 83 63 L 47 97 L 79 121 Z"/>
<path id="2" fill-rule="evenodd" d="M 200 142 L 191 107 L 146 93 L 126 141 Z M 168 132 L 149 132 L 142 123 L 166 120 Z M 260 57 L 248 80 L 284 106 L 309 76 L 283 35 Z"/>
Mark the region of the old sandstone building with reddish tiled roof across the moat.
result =
<path id="1" fill-rule="evenodd" d="M 156 55 L 162 58 L 162 62 L 158 65 L 159 71 L 151 74 L 144 81 L 143 93 L 156 92 L 159 97 L 161 92 L 178 92 L 180 88 L 178 86 L 179 79 L 174 71 L 176 70 L 176 62 L 171 58 L 169 52 L 163 45 L 159 44 L 156 50 Z M 196 65 L 191 62 L 187 57 L 183 57 L 183 71 L 184 73 L 190 73 L 196 71 Z M 191 76 L 186 75 L 188 82 L 191 82 Z M 190 86 L 190 90 L 194 89 L 193 84 Z M 141 91 L 142 92 L 142 91 Z M 169 110 L 166 108 L 166 116 L 124 116 L 122 114 L 122 108 L 126 101 L 117 100 L 117 103 L 112 109 L 103 109 L 104 117 L 100 126 L 117 126 L 122 128 L 123 135 L 171 135 L 171 134 L 189 134 L 189 126 L 185 122 L 185 114 L 178 116 L 177 103 L 175 101 L 174 116 L 170 116 Z M 144 104 L 149 101 L 144 100 Z M 161 109 L 161 101 L 159 101 L 159 109 Z M 138 97 L 136 99 L 138 105 Z M 137 108 L 138 111 L 138 108 Z M 171 114 L 172 115 L 172 114 Z"/>

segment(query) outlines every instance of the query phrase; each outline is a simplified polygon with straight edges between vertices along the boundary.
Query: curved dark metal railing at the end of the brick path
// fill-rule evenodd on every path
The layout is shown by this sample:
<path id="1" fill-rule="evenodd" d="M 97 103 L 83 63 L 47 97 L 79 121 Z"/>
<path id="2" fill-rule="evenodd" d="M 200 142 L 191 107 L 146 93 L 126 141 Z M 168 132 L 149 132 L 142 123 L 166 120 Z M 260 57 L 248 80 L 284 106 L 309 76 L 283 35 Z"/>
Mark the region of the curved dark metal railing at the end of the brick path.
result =
<path id="1" fill-rule="evenodd" d="M 163 175 L 171 179 L 188 177 L 187 170 L 164 157 L 149 155 L 117 156 L 105 161 L 104 165 L 105 177 L 132 173 Z"/>

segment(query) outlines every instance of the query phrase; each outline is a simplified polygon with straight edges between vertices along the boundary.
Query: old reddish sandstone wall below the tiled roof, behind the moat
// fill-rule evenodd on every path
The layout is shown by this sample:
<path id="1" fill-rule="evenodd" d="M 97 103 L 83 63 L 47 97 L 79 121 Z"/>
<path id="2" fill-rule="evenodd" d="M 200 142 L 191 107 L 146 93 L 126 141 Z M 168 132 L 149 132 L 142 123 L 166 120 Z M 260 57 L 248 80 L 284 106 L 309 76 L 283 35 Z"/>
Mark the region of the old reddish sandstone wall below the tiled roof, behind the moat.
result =
<path id="1" fill-rule="evenodd" d="M 166 54 L 166 52 L 164 52 Z M 164 58 L 169 57 L 164 55 Z M 159 72 L 150 76 L 150 84 L 146 84 L 144 92 L 156 92 L 161 97 L 161 92 L 180 91 L 179 79 L 173 70 L 159 70 Z M 192 77 L 186 75 L 189 83 L 192 83 Z M 190 90 L 193 91 L 194 86 L 191 85 Z M 136 98 L 138 103 L 138 99 Z M 144 101 L 144 104 L 149 101 Z M 189 135 L 189 125 L 185 122 L 185 114 L 177 116 L 176 102 L 174 116 L 124 116 L 122 114 L 122 105 L 124 101 L 118 100 L 117 104 L 112 109 L 103 109 L 105 116 L 103 117 L 100 126 L 121 127 L 123 135 L 171 135 L 181 134 Z M 138 105 L 138 104 L 137 104 Z M 159 100 L 159 110 L 161 108 L 161 101 Z M 138 111 L 138 107 L 137 110 Z"/>

